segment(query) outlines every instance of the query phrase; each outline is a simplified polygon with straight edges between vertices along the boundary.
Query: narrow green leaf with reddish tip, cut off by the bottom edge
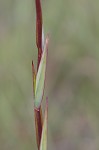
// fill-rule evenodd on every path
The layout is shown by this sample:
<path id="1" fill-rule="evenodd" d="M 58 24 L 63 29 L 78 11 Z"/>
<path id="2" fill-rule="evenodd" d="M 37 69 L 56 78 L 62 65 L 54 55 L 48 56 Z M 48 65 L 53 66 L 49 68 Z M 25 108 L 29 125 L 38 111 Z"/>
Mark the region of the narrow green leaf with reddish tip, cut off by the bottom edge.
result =
<path id="1" fill-rule="evenodd" d="M 40 150 L 47 150 L 47 122 L 48 122 L 48 101 L 46 102 L 44 123 L 42 129 L 42 137 L 40 143 Z"/>

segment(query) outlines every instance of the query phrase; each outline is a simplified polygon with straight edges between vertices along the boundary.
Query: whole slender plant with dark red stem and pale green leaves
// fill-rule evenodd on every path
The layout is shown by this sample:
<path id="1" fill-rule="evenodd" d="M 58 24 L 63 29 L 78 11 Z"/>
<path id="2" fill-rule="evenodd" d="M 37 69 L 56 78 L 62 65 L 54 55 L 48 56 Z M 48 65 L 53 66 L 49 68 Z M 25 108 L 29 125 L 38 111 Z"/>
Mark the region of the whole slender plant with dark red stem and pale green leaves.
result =
<path id="1" fill-rule="evenodd" d="M 47 120 L 48 120 L 48 100 L 46 98 L 46 108 L 44 117 L 42 115 L 42 100 L 44 95 L 48 36 L 44 41 L 42 27 L 42 9 L 40 0 L 35 0 L 36 6 L 36 45 L 38 49 L 37 69 L 32 61 L 33 73 L 33 94 L 34 94 L 34 115 L 35 129 L 38 150 L 47 150 Z"/>

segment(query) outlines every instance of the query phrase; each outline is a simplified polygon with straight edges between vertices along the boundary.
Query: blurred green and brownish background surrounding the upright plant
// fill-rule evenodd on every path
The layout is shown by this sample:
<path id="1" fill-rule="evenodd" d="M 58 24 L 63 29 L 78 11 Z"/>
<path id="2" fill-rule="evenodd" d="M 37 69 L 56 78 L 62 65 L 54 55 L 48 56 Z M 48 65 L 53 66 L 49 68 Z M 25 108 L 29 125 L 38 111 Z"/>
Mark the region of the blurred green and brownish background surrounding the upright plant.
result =
<path id="1" fill-rule="evenodd" d="M 42 0 L 50 34 L 49 150 L 99 150 L 99 0 Z M 36 150 L 34 0 L 0 0 L 0 150 Z"/>

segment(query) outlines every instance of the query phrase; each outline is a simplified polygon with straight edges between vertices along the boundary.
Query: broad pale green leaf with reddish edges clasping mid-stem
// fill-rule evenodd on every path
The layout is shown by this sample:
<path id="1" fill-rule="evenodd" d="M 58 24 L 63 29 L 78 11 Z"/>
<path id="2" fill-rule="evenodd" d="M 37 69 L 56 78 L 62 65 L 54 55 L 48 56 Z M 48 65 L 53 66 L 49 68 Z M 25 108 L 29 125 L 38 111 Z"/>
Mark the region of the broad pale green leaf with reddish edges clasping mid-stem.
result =
<path id="1" fill-rule="evenodd" d="M 44 51 L 42 53 L 41 61 L 39 64 L 37 76 L 36 76 L 36 88 L 35 88 L 35 108 L 38 109 L 41 105 L 44 83 L 45 83 L 45 72 L 46 72 L 46 59 L 47 59 L 47 49 L 48 49 L 48 37 L 46 38 Z"/>

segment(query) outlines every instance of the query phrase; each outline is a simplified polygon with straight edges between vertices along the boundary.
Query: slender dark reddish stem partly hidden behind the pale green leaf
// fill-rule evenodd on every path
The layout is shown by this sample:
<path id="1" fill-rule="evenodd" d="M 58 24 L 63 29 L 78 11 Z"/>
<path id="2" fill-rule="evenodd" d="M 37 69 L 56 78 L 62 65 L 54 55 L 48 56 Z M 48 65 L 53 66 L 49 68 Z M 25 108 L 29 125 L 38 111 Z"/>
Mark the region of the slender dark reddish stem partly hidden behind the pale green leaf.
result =
<path id="1" fill-rule="evenodd" d="M 41 2 L 40 0 L 35 0 L 36 5 L 36 45 L 38 48 L 38 61 L 37 61 L 37 71 L 39 68 L 39 64 L 42 57 L 42 9 L 41 9 Z M 34 69 L 34 64 L 32 62 L 32 72 L 36 78 L 36 73 Z M 35 97 L 35 83 L 33 83 L 34 88 L 34 97 Z M 42 109 L 41 106 L 37 110 L 34 108 L 34 115 L 35 115 L 35 128 L 36 128 L 36 139 L 37 139 L 37 147 L 38 150 L 40 149 L 40 142 L 41 142 L 41 135 L 42 135 Z"/>

